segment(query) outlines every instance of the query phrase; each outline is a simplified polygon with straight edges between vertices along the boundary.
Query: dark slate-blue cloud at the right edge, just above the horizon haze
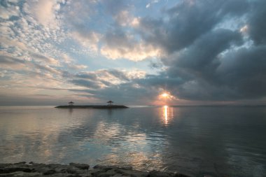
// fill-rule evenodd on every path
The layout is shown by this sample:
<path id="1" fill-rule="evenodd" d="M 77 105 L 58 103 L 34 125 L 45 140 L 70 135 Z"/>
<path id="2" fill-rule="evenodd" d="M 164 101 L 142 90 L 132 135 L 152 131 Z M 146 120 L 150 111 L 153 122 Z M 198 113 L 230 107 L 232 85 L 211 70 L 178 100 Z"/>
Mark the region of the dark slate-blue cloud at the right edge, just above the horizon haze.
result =
<path id="1" fill-rule="evenodd" d="M 266 96 L 266 46 L 241 48 L 231 52 L 218 69 L 221 85 L 235 91 L 236 98 Z"/>

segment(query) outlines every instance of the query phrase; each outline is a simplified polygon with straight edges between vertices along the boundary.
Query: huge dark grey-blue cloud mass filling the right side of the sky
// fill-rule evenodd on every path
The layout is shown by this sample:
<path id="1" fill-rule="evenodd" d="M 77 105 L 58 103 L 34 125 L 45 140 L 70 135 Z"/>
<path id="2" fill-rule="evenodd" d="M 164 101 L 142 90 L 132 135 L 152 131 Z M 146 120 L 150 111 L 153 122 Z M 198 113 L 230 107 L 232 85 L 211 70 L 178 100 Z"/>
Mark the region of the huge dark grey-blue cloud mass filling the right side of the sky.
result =
<path id="1" fill-rule="evenodd" d="M 265 90 L 265 46 L 241 47 L 248 41 L 244 41 L 239 31 L 216 28 L 228 17 L 240 17 L 246 12 L 249 17 L 247 22 L 256 23 L 255 18 L 258 17 L 256 19 L 261 23 L 254 24 L 251 31 L 264 24 L 260 21 L 264 6 L 260 6 L 261 10 L 258 11 L 246 11 L 250 10 L 251 5 L 246 1 L 241 2 L 184 2 L 167 11 L 168 22 L 150 17 L 141 18 L 139 32 L 144 42 L 167 52 L 162 57 L 167 69 L 159 75 L 132 80 L 132 87 L 138 85 L 142 89 L 166 89 L 180 99 L 200 101 L 265 97 L 262 92 Z M 237 6 L 239 3 L 241 6 Z M 213 4 L 214 8 L 209 8 L 210 4 Z M 249 25 L 251 24 L 248 24 L 248 27 Z M 256 44 L 263 44 L 264 31 L 254 34 L 251 31 L 251 39 Z M 257 41 L 255 36 L 252 36 L 255 34 L 260 35 Z M 121 36 L 123 35 L 117 35 L 115 38 Z M 121 41 L 121 46 L 127 45 L 127 40 Z"/>

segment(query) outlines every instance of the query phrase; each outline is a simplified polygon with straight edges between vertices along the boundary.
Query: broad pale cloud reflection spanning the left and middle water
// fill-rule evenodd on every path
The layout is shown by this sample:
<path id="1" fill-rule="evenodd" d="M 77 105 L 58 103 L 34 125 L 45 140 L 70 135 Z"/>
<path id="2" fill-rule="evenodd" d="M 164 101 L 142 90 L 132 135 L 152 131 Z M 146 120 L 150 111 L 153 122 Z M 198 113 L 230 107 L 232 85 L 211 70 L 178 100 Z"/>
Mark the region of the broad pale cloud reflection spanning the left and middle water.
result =
<path id="1" fill-rule="evenodd" d="M 11 116 L 5 131 L 11 138 L 4 140 L 9 148 L 8 155 L 1 155 L 3 162 L 110 162 L 137 169 L 163 166 L 161 146 L 165 143 L 160 134 L 144 133 L 141 129 L 146 125 L 139 120 L 117 118 L 120 111 L 96 112 L 55 109 Z"/>

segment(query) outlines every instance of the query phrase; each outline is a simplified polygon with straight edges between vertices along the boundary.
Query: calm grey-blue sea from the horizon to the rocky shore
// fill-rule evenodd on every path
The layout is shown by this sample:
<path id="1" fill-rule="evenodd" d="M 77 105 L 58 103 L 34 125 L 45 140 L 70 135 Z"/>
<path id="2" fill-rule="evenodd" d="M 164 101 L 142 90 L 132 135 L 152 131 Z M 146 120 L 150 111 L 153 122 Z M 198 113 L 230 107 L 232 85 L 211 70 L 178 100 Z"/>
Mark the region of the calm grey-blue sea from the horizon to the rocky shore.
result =
<path id="1" fill-rule="evenodd" d="M 0 107 L 1 162 L 265 176 L 266 107 Z"/>

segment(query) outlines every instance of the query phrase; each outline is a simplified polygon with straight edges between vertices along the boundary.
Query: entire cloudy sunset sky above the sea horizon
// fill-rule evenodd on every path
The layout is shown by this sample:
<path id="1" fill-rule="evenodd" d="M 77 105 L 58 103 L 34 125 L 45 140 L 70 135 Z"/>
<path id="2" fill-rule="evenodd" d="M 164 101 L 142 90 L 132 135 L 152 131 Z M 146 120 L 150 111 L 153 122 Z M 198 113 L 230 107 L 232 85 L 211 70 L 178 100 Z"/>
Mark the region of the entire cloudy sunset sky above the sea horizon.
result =
<path id="1" fill-rule="evenodd" d="M 265 0 L 1 0 L 0 105 L 266 104 L 265 17 Z"/>

